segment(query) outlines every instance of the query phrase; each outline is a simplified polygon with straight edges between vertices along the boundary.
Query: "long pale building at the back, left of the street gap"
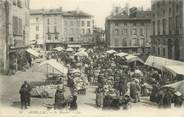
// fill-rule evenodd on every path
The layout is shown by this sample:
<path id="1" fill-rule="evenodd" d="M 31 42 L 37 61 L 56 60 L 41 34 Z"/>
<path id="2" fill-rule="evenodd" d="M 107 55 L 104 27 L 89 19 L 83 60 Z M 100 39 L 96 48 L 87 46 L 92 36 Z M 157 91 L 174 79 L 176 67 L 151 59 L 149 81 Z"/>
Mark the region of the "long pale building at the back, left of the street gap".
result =
<path id="1" fill-rule="evenodd" d="M 32 10 L 30 22 L 31 40 L 41 42 L 38 44 L 42 44 L 46 50 L 52 50 L 57 46 L 94 43 L 93 16 L 79 10 L 67 12 L 62 11 L 62 8 Z"/>

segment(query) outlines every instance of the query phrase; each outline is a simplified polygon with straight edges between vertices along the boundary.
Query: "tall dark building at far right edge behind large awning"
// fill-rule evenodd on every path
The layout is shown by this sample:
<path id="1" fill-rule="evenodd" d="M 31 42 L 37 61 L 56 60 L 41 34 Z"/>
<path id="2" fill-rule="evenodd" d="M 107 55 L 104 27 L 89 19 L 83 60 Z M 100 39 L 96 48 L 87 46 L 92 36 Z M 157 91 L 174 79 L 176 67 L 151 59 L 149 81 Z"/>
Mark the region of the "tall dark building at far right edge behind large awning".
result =
<path id="1" fill-rule="evenodd" d="M 152 0 L 152 54 L 184 60 L 183 0 Z"/>

